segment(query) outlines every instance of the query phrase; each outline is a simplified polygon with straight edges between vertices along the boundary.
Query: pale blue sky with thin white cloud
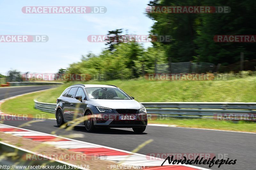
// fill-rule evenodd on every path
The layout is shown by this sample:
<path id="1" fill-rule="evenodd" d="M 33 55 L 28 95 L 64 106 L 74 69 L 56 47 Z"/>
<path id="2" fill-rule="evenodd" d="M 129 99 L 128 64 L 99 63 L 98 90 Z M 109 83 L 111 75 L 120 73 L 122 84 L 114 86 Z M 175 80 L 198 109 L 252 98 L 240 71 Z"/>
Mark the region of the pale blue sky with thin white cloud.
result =
<path id="1" fill-rule="evenodd" d="M 0 73 L 55 73 L 78 62 L 88 52 L 100 54 L 104 42 L 89 35 L 106 35 L 123 28 L 129 34 L 148 35 L 154 21 L 145 15 L 149 0 L 1 0 L 0 35 L 47 35 L 47 42 L 0 42 Z M 104 6 L 106 13 L 27 14 L 24 6 Z M 150 42 L 143 43 L 145 48 Z"/>

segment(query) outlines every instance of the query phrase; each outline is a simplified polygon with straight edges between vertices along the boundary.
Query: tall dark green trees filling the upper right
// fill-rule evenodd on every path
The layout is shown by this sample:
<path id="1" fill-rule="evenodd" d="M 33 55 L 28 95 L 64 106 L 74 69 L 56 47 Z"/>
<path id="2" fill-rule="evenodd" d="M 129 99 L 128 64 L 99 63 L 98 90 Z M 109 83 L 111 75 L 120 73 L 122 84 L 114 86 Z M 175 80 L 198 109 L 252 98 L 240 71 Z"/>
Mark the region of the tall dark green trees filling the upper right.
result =
<path id="1" fill-rule="evenodd" d="M 229 6 L 229 13 L 148 13 L 157 21 L 151 32 L 172 35 L 172 42 L 164 43 L 172 61 L 209 62 L 222 65 L 244 59 L 255 59 L 255 43 L 214 42 L 214 35 L 255 35 L 256 1 L 250 0 L 154 0 L 151 6 Z"/>

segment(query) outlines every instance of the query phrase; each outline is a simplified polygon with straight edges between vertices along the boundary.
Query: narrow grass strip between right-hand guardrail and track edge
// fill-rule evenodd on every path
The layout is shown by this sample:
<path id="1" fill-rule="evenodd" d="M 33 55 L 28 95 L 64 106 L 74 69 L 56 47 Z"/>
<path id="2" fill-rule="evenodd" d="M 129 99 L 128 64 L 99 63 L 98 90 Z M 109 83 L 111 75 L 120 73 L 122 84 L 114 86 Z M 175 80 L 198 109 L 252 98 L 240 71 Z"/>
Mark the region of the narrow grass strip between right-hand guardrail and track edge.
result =
<path id="1" fill-rule="evenodd" d="M 167 118 L 165 120 L 148 120 L 149 123 L 177 125 L 186 128 L 218 129 L 241 132 L 256 132 L 256 122 L 224 121 L 204 118 Z"/>

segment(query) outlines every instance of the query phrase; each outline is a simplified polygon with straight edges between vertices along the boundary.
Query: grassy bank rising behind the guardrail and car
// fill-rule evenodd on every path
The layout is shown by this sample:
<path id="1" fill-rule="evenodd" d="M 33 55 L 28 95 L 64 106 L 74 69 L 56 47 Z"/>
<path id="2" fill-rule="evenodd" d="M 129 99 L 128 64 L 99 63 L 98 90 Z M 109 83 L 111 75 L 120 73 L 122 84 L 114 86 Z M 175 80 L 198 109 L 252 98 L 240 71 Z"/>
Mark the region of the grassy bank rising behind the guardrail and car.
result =
<path id="1" fill-rule="evenodd" d="M 149 81 L 112 80 L 76 82 L 116 85 L 139 102 L 255 102 L 256 76 L 233 80 Z M 74 82 L 44 92 L 38 101 L 55 103 L 65 88 Z"/>

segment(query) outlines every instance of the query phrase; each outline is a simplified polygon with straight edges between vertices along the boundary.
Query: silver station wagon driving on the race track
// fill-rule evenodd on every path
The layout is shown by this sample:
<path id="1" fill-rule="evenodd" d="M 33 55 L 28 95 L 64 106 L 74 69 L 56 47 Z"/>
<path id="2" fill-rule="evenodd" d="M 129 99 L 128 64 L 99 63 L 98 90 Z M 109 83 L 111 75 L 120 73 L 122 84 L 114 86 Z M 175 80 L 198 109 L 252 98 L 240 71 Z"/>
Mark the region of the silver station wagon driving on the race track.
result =
<path id="1" fill-rule="evenodd" d="M 114 85 L 72 85 L 57 99 L 58 126 L 84 125 L 87 131 L 98 127 L 132 128 L 144 132 L 148 124 L 146 108 Z"/>

